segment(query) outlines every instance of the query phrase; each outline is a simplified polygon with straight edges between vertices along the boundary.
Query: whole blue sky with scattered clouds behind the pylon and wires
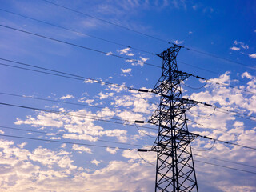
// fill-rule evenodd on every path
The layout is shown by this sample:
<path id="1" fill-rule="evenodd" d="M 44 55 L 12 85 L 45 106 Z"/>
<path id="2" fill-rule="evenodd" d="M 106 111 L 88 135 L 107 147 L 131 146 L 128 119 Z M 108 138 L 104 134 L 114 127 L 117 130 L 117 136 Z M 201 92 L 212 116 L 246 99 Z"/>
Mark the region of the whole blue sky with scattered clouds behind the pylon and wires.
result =
<path id="1" fill-rule="evenodd" d="M 148 162 L 155 163 L 155 154 L 142 153 L 141 156 L 146 160 L 145 162 L 136 150 L 121 148 L 138 148 L 129 144 L 141 145 L 148 149 L 152 146 L 156 130 L 140 131 L 132 122 L 146 121 L 150 118 L 158 106 L 159 98 L 154 94 L 138 94 L 138 91 L 127 90 L 124 86 L 152 89 L 161 75 L 161 69 L 147 66 L 145 62 L 162 66 L 162 60 L 140 50 L 159 54 L 170 44 L 41 0 L 0 0 L 0 2 L 0 25 L 109 53 L 108 55 L 99 54 L 0 26 L 0 58 L 123 85 L 108 86 L 88 80 L 62 78 L 1 65 L 2 103 L 58 110 L 74 115 L 1 105 L 1 135 L 113 147 L 79 146 L 74 143 L 40 142 L 1 136 L 1 191 L 153 191 L 155 167 Z M 182 85 L 183 96 L 227 110 L 238 111 L 246 114 L 247 118 L 248 115 L 256 116 L 256 26 L 254 21 L 256 2 L 186 0 L 75 0 L 72 2 L 51 0 L 51 2 L 167 42 L 175 42 L 181 46 L 237 62 L 227 62 L 183 48 L 177 58 L 178 70 L 210 79 L 205 85 L 204 81 L 190 77 L 183 82 L 185 84 Z M 75 30 L 80 34 L 22 18 L 3 10 Z M 126 46 L 118 46 L 84 34 Z M 127 46 L 139 50 L 130 49 Z M 110 54 L 138 59 L 140 62 L 130 62 L 128 59 L 115 58 Z M 3 60 L 0 63 L 19 66 L 17 63 Z M 218 86 L 214 82 L 229 86 Z M 198 89 L 200 87 L 202 88 Z M 24 97 L 6 94 L 18 94 Z M 74 102 L 85 106 L 33 98 Z M 87 118 L 78 117 L 78 115 Z M 194 133 L 244 146 L 256 146 L 255 118 L 239 118 L 234 113 L 224 114 L 221 110 L 214 111 L 213 108 L 202 105 L 194 106 L 186 115 L 190 120 L 198 122 L 198 124 L 189 122 L 189 130 Z M 96 121 L 90 119 L 91 117 L 105 120 L 120 118 L 131 122 L 114 124 Z M 31 131 L 6 129 L 2 126 Z M 47 134 L 33 131 L 42 131 Z M 212 149 L 207 150 L 211 146 L 213 142 L 195 139 L 192 143 L 193 153 L 203 157 L 195 156 L 194 158 L 203 162 L 256 172 L 255 150 L 221 142 L 216 142 Z M 238 166 L 211 158 L 242 162 L 250 166 Z M 256 191 L 255 174 L 211 166 L 202 162 L 195 162 L 195 168 L 200 191 Z"/>

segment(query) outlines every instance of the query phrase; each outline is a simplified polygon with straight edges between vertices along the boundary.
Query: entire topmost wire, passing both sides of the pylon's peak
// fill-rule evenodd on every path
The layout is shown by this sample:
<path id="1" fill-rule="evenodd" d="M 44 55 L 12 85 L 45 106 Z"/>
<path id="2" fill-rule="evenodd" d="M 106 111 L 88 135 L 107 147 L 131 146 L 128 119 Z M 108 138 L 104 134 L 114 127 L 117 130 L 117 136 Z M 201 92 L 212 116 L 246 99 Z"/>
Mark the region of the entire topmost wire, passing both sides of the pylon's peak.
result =
<path id="1" fill-rule="evenodd" d="M 144 35 L 144 36 L 146 36 L 146 37 L 149 37 L 149 38 L 154 38 L 154 39 L 156 39 L 156 40 L 158 40 L 158 41 L 160 41 L 160 42 L 166 42 L 166 43 L 168 43 L 168 44 L 171 44 L 171 43 L 172 43 L 172 42 L 166 41 L 165 39 L 158 38 L 158 37 L 155 37 L 155 36 L 152 36 L 152 35 L 149 35 L 149 34 L 145 34 L 145 33 L 142 33 L 142 32 L 140 32 L 140 31 L 138 31 L 138 30 L 132 30 L 132 29 L 130 29 L 129 27 L 121 26 L 121 25 L 118 25 L 118 24 L 116 24 L 116 23 L 114 23 L 114 22 L 109 22 L 109 21 L 107 21 L 107 20 L 105 20 L 105 19 L 97 18 L 97 17 L 95 17 L 95 16 L 93 16 L 93 15 L 86 14 L 86 13 L 83 13 L 83 12 L 78 11 L 78 10 L 73 10 L 73 9 L 71 9 L 71 8 L 69 8 L 69 7 L 62 6 L 62 5 L 57 4 L 57 3 L 54 3 L 54 2 L 50 2 L 50 1 L 47 1 L 47 0 L 42 0 L 42 1 L 48 2 L 48 3 L 50 3 L 50 4 L 54 5 L 54 6 L 62 7 L 63 9 L 70 10 L 70 11 L 72 11 L 72 12 L 74 12 L 74 13 L 77 13 L 77 14 L 85 15 L 86 17 L 89 17 L 89 18 L 97 19 L 98 21 L 101 21 L 101 22 L 106 22 L 106 23 L 108 23 L 108 24 L 110 24 L 110 25 L 113 25 L 113 26 L 118 26 L 118 27 L 120 27 L 120 28 L 122 28 L 122 29 L 125 29 L 125 30 L 133 31 L 134 33 L 137 33 L 137 34 L 142 34 L 142 35 Z M 172 43 L 172 44 L 174 44 L 174 43 Z M 191 51 L 194 51 L 194 52 L 196 52 L 196 53 L 198 53 L 198 54 L 204 54 L 204 55 L 210 56 L 210 57 L 212 57 L 212 58 L 218 58 L 218 59 L 223 60 L 223 61 L 226 61 L 226 62 L 231 62 L 231 63 L 237 64 L 237 65 L 240 65 L 240 66 L 246 66 L 246 67 L 249 67 L 250 69 L 254 69 L 254 70 L 256 69 L 255 67 L 246 65 L 246 64 L 244 64 L 244 63 L 242 63 L 242 62 L 235 62 L 235 61 L 230 60 L 230 59 L 228 59 L 228 58 L 222 58 L 222 57 L 220 57 L 220 56 L 218 56 L 218 55 L 215 55 L 215 54 L 206 53 L 206 52 L 201 51 L 201 50 L 195 50 L 195 49 L 190 48 L 190 47 L 188 47 L 188 46 L 182 46 L 182 47 L 186 48 L 186 50 L 191 50 Z"/>

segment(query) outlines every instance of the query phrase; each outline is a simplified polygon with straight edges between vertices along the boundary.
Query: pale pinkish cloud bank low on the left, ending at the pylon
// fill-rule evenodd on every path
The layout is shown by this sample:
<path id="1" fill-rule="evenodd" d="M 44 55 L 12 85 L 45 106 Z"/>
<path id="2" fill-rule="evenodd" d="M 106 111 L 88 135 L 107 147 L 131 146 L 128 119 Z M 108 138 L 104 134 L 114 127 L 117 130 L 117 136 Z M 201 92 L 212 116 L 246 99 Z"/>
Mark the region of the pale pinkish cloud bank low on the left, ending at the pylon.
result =
<path id="1" fill-rule="evenodd" d="M 154 187 L 154 167 L 142 162 L 108 162 L 98 170 L 73 165 L 64 151 L 35 149 L 32 153 L 2 140 L 0 181 L 1 191 L 149 191 Z M 10 158 L 10 156 L 12 158 Z M 30 158 L 33 158 L 30 159 Z M 99 165 L 102 161 L 90 161 Z M 58 171 L 54 167 L 58 166 Z M 3 174 L 4 173 L 4 174 Z M 126 173 L 126 174 L 123 174 Z M 122 182 L 123 180 L 126 182 Z M 98 181 L 101 182 L 98 182 Z M 86 181 L 86 182 L 85 182 Z M 24 184 L 26 183 L 26 185 Z M 118 183 L 118 184 L 117 184 Z"/>

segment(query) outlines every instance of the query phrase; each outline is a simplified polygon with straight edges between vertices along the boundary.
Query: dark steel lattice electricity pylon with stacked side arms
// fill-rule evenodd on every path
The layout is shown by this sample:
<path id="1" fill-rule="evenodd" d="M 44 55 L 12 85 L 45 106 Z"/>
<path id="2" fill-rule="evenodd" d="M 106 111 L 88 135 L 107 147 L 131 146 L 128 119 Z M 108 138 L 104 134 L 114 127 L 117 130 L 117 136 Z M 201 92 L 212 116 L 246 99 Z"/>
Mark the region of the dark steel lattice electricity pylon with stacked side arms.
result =
<path id="1" fill-rule="evenodd" d="M 160 104 L 148 122 L 158 125 L 158 137 L 151 150 L 157 152 L 155 191 L 198 191 L 186 110 L 197 102 L 183 99 L 180 83 L 190 74 L 178 71 L 176 57 L 181 46 L 171 46 L 158 54 L 162 58 L 162 76 L 152 92 L 160 95 Z"/>

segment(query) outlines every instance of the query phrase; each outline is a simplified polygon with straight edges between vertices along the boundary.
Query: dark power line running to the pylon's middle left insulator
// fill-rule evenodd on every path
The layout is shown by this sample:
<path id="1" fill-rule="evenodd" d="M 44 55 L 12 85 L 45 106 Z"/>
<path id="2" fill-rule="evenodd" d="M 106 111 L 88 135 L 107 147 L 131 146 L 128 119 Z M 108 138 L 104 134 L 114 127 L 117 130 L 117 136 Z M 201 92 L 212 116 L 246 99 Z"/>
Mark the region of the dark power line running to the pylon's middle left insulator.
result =
<path id="1" fill-rule="evenodd" d="M 97 117 L 97 116 L 90 116 L 90 115 L 79 115 L 79 114 L 70 114 L 70 113 L 66 113 L 66 112 L 62 112 L 62 111 L 58 111 L 58 110 L 44 110 L 44 109 L 40 109 L 40 108 L 35 108 L 35 107 L 30 107 L 30 106 L 19 106 L 19 105 L 13 105 L 10 103 L 5 103 L 5 102 L 0 102 L 0 105 L 4 105 L 4 106 L 14 106 L 14 107 L 18 107 L 18 108 L 23 108 L 23 109 L 28 109 L 28 110 L 38 110 L 38 111 L 44 111 L 46 113 L 54 113 L 54 114 L 62 114 L 62 115 L 68 115 L 68 116 L 74 116 L 74 117 L 78 117 L 78 118 L 86 118 L 86 119 L 92 119 L 95 121 L 101 121 L 101 122 L 110 122 L 110 123 L 116 123 L 119 125 L 123 125 L 123 122 L 132 122 L 129 120 L 122 120 L 122 119 L 116 119 L 118 121 L 123 121 L 123 122 L 113 122 L 113 121 L 109 121 L 106 119 L 114 119 L 114 118 L 106 118 L 106 119 L 101 119 L 103 117 Z M 94 117 L 94 118 L 91 118 Z M 130 125 L 127 124 L 128 126 L 134 126 L 134 125 Z M 140 126 L 141 128 L 145 128 L 145 129 L 150 129 L 150 130 L 157 130 L 156 128 L 152 128 L 152 127 L 148 127 L 148 126 Z"/>

